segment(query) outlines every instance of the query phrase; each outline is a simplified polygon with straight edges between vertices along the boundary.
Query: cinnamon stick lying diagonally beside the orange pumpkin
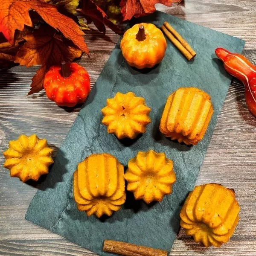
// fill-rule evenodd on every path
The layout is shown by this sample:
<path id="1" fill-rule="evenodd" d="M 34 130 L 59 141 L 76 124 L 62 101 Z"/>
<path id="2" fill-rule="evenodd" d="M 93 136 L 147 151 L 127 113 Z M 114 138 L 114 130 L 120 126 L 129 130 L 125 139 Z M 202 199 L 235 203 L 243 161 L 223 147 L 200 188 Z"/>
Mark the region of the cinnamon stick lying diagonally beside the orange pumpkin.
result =
<path id="1" fill-rule="evenodd" d="M 167 22 L 163 23 L 161 29 L 165 35 L 172 41 L 172 43 L 183 53 L 183 55 L 190 61 L 195 57 L 196 52 L 186 42 L 186 40 Z"/>

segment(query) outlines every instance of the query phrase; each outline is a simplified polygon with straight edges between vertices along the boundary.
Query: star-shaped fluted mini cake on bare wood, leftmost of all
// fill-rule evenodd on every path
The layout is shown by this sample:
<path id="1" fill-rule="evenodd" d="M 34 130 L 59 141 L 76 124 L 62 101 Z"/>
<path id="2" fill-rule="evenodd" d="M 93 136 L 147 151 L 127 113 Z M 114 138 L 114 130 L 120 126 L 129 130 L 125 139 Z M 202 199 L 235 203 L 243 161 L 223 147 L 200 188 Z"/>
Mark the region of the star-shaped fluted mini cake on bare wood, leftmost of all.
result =
<path id="1" fill-rule="evenodd" d="M 38 180 L 53 163 L 47 140 L 40 140 L 35 134 L 30 137 L 22 134 L 18 140 L 11 140 L 3 155 L 6 158 L 3 166 L 10 170 L 11 177 L 19 177 L 23 182 Z"/>

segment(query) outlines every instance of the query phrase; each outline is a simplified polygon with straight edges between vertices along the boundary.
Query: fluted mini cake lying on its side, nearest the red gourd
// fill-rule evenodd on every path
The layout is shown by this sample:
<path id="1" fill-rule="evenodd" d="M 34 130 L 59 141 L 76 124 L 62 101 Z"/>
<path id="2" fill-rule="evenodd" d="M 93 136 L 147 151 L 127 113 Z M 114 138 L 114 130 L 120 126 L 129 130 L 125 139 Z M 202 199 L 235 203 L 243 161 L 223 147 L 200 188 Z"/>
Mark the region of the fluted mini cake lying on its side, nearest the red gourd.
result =
<path id="1" fill-rule="evenodd" d="M 207 93 L 195 87 L 179 88 L 167 99 L 160 131 L 172 140 L 196 145 L 203 139 L 212 113 Z"/>

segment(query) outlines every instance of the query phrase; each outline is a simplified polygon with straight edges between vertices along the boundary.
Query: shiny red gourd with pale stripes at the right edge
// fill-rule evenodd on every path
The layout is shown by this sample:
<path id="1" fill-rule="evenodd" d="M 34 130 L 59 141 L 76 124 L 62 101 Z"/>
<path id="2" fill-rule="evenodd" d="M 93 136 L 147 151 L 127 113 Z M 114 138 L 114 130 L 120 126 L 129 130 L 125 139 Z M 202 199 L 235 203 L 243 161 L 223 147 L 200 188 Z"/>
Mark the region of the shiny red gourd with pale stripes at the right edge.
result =
<path id="1" fill-rule="evenodd" d="M 223 48 L 217 48 L 215 53 L 224 62 L 225 70 L 243 82 L 247 107 L 256 116 L 256 66 L 243 55 Z"/>

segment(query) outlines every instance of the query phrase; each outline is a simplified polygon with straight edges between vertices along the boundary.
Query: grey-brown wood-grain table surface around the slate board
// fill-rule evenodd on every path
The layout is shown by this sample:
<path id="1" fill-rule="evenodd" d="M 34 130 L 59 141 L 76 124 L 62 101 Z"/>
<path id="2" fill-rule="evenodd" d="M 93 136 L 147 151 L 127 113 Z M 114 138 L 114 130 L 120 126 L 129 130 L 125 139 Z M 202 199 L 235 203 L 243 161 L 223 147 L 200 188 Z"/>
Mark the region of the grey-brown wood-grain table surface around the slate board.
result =
<path id="1" fill-rule="evenodd" d="M 157 9 L 216 29 L 246 41 L 243 54 L 256 64 L 256 0 L 185 0 Z M 79 60 L 96 81 L 119 36 L 92 31 L 86 37 L 90 58 Z M 90 256 L 83 247 L 24 219 L 29 202 L 40 184 L 22 183 L 3 168 L 2 152 L 20 134 L 38 134 L 58 150 L 79 108 L 59 108 L 44 91 L 25 96 L 37 67 L 13 67 L 0 72 L 0 255 Z M 204 248 L 183 229 L 170 255 L 256 256 L 256 118 L 247 110 L 244 86 L 233 81 L 212 136 L 197 184 L 221 183 L 236 191 L 241 212 L 231 240 L 221 248 Z M 42 212 L 44 214 L 44 212 Z"/>

